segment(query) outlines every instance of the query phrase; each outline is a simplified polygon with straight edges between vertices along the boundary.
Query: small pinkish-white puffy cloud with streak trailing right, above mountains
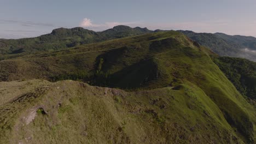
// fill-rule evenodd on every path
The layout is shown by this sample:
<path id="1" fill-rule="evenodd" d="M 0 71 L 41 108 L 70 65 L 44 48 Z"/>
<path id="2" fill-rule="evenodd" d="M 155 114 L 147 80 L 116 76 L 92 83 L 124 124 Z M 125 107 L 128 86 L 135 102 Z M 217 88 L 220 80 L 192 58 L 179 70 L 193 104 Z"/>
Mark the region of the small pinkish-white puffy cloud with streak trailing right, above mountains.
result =
<path id="1" fill-rule="evenodd" d="M 104 23 L 93 23 L 91 19 L 84 18 L 82 22 L 79 23 L 80 27 L 90 28 L 95 31 L 106 30 L 107 28 L 113 28 L 118 25 L 135 26 L 141 22 L 104 22 Z"/>

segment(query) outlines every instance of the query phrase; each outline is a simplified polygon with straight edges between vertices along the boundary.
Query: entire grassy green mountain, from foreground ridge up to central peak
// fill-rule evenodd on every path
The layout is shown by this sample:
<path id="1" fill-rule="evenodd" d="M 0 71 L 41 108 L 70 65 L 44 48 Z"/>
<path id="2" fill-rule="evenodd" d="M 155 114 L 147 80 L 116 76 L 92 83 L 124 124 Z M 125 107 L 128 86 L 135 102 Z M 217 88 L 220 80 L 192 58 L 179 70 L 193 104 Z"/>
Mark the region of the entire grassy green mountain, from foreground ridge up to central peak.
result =
<path id="1" fill-rule="evenodd" d="M 0 61 L 0 143 L 255 143 L 228 64 L 176 31 Z"/>

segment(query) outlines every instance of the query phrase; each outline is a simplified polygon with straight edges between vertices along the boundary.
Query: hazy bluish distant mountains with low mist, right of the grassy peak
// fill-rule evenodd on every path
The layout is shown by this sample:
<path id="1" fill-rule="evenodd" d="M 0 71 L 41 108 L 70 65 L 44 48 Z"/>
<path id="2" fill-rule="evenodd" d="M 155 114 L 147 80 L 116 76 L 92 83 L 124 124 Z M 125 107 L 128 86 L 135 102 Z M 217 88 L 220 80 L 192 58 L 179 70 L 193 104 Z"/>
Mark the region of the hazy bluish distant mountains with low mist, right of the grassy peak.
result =
<path id="1" fill-rule="evenodd" d="M 256 38 L 224 33 L 179 31 L 200 45 L 209 47 L 220 56 L 247 58 L 256 62 Z"/>

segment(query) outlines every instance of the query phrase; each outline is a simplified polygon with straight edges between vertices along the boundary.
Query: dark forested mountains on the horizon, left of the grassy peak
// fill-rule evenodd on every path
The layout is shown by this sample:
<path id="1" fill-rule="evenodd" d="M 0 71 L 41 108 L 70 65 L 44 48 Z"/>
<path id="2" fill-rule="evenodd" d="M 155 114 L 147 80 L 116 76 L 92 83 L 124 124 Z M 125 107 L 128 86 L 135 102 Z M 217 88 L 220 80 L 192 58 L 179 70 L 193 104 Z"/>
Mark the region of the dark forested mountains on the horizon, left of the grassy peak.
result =
<path id="1" fill-rule="evenodd" d="M 94 32 L 82 27 L 57 28 L 50 34 L 36 38 L 0 39 L 0 55 L 53 51 L 81 44 L 124 38 L 152 33 L 147 28 L 115 26 L 103 32 Z"/>

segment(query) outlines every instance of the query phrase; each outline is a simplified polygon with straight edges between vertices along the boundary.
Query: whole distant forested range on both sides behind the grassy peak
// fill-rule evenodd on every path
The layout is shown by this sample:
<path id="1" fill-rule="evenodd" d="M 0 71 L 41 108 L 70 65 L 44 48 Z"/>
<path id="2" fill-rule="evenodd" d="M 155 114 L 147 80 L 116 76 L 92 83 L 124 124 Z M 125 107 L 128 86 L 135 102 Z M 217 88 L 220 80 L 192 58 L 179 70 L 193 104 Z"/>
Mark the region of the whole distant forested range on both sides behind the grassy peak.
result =
<path id="1" fill-rule="evenodd" d="M 150 31 L 147 28 L 115 26 L 102 32 L 94 32 L 82 27 L 57 28 L 50 34 L 36 38 L 0 39 L 0 59 L 21 53 L 36 53 L 67 49 L 83 44 L 96 43 L 104 40 L 131 37 L 162 31 Z M 224 33 L 195 33 L 193 31 L 178 31 L 187 35 L 200 45 L 210 48 L 220 56 L 240 57 L 256 61 L 256 38 L 242 35 L 227 35 Z"/>

